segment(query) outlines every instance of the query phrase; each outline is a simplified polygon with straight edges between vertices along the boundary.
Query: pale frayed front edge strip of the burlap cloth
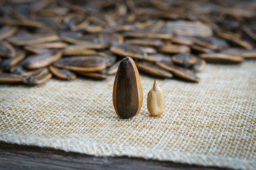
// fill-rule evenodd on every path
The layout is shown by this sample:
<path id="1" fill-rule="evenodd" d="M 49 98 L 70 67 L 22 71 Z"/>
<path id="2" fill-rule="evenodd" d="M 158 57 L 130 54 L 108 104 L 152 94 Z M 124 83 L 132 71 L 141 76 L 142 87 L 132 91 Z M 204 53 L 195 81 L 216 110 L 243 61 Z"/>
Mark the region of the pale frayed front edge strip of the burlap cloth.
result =
<path id="1" fill-rule="evenodd" d="M 41 137 L 25 137 L 0 133 L 4 142 L 12 141 L 18 145 L 35 145 L 39 147 L 51 147 L 62 149 L 65 152 L 79 152 L 97 157 L 143 157 L 144 159 L 156 159 L 160 161 L 171 161 L 184 164 L 198 164 L 202 166 L 220 166 L 233 169 L 255 169 L 256 162 L 246 159 L 235 159 L 230 157 L 215 157 L 206 154 L 190 154 L 187 152 L 171 152 L 169 150 L 149 149 L 145 147 L 127 147 L 125 145 L 105 145 L 101 143 L 80 142 L 73 140 L 56 140 Z M 96 150 L 100 149 L 104 154 Z M 166 159 L 168 157 L 169 159 Z"/>

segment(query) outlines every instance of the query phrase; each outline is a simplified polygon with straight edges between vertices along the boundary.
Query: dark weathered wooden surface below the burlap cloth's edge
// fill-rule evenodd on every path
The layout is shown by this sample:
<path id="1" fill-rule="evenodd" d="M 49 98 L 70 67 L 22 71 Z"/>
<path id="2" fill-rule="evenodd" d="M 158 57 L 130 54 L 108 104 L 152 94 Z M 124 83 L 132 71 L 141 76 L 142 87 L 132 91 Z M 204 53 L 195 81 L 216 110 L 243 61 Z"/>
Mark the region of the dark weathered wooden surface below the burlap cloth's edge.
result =
<path id="1" fill-rule="evenodd" d="M 0 169 L 207 169 L 174 162 L 160 162 L 129 157 L 93 157 L 51 148 L 31 147 L 0 142 Z"/>

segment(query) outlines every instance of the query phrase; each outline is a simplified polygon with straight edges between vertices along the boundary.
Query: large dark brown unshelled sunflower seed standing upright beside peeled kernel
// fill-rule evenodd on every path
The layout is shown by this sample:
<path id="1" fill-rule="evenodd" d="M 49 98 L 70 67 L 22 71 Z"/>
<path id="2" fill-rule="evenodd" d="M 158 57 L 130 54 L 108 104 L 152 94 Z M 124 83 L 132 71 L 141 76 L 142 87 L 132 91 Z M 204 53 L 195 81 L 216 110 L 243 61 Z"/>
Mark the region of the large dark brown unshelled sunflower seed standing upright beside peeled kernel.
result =
<path id="1" fill-rule="evenodd" d="M 142 83 L 136 64 L 125 57 L 119 64 L 113 87 L 113 104 L 119 118 L 132 118 L 142 108 Z"/>

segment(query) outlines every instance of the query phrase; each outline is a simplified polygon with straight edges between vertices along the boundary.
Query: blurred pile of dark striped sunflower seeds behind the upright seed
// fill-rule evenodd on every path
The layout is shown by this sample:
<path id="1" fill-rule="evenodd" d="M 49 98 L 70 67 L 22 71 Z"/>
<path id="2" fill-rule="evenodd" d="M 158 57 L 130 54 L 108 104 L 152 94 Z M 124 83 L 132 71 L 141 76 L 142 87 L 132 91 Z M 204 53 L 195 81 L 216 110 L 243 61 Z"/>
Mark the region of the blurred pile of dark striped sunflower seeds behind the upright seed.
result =
<path id="1" fill-rule="evenodd" d="M 200 81 L 206 62 L 256 58 L 255 1 L 0 1 L 0 83 L 139 72 Z M 224 66 L 223 66 L 224 67 Z M 221 76 L 221 75 L 220 75 Z"/>

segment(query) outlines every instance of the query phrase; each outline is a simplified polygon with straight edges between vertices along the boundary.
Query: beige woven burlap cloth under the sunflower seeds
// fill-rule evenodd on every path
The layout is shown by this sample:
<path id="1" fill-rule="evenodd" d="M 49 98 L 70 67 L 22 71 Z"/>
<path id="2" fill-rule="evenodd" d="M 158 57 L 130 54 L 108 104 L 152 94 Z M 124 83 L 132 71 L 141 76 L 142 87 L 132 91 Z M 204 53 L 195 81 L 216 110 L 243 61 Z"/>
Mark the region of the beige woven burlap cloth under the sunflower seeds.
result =
<path id="1" fill-rule="evenodd" d="M 154 78 L 141 76 L 139 115 L 114 113 L 106 81 L 53 79 L 41 86 L 1 85 L 0 140 L 96 156 L 256 169 L 256 62 L 208 64 L 199 84 L 157 79 L 166 110 L 146 110 Z"/>

